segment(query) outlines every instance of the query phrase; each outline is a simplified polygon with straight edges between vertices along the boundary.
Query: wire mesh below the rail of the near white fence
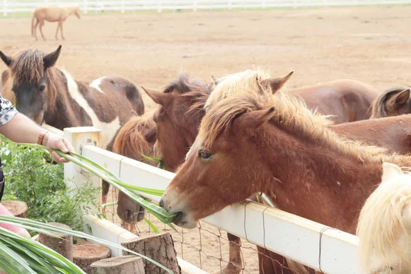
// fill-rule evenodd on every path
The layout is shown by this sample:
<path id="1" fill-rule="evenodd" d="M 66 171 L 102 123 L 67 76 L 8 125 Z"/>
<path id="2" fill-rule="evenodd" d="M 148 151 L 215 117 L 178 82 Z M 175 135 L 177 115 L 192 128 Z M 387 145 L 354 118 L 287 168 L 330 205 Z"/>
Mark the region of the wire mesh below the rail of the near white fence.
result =
<path id="1" fill-rule="evenodd" d="M 108 193 L 108 203 L 117 200 L 116 191 L 110 188 Z M 117 205 L 110 205 L 105 208 L 105 218 L 116 225 L 129 229 L 122 223 L 116 214 Z M 167 225 L 164 225 L 149 212 L 145 212 L 145 218 L 157 227 L 160 232 L 169 232 L 173 236 L 177 256 L 190 262 L 208 273 L 259 273 L 259 260 L 262 258 L 264 265 L 270 265 L 279 273 L 306 274 L 314 273 L 308 269 L 290 269 L 285 258 L 276 260 L 271 258 L 267 251 L 258 250 L 256 245 L 247 240 L 233 240 L 236 236 L 227 236 L 227 232 L 199 221 L 195 229 L 183 229 L 176 227 L 177 232 Z M 145 221 L 132 224 L 132 232 L 138 236 L 154 235 L 155 232 Z M 234 255 L 230 256 L 229 246 L 232 245 Z M 232 260 L 231 259 L 239 259 Z M 277 272 L 275 272 L 277 273 Z"/>

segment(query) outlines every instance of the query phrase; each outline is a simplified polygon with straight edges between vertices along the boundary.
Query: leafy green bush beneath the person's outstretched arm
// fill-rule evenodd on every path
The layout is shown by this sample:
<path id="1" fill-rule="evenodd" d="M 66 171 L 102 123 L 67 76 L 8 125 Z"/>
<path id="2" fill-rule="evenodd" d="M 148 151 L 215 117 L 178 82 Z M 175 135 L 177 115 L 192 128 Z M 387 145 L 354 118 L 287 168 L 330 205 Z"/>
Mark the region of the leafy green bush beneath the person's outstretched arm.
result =
<path id="1" fill-rule="evenodd" d="M 82 216 L 96 206 L 99 188 L 87 182 L 70 190 L 64 184 L 63 164 L 53 162 L 48 151 L 17 145 L 3 136 L 0 157 L 5 174 L 3 201 L 25 201 L 30 219 L 82 230 Z"/>

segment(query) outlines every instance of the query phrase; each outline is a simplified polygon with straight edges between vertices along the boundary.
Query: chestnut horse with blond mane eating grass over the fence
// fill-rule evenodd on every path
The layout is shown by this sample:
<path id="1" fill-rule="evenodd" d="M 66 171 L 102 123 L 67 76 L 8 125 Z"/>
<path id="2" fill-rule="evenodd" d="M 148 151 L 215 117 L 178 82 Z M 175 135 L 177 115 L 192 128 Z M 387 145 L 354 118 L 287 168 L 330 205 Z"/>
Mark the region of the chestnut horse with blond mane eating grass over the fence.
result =
<path id="1" fill-rule="evenodd" d="M 360 145 L 356 141 L 345 142 L 344 138 L 328 128 L 332 121 L 327 116 L 308 110 L 302 100 L 286 92 L 272 95 L 268 91 L 271 90 L 270 81 L 264 83 L 259 78 L 249 77 L 242 83 L 245 86 L 241 86 L 240 80 L 232 81 L 227 88 L 257 88 L 264 92 L 261 95 L 245 92 L 227 97 L 206 113 L 195 144 L 179 173 L 166 188 L 160 206 L 178 214 L 174 220 L 176 225 L 192 228 L 199 219 L 261 191 L 269 195 L 275 206 L 282 210 L 353 233 L 359 211 L 355 208 L 361 204 L 361 198 L 362 201 L 366 199 L 371 189 L 360 188 L 350 169 L 360 169 L 364 163 L 368 164 L 367 167 L 377 169 L 382 159 L 400 162 L 410 159 L 406 156 L 390 158 L 390 155 L 383 154 L 385 149 Z M 272 105 L 275 108 L 271 108 Z M 274 130 L 275 134 L 271 134 Z M 301 138 L 303 140 L 299 140 Z M 271 155 L 273 151 L 275 154 Z M 316 161 L 321 164 L 316 165 Z M 254 164 L 259 166 L 258 170 L 253 168 Z M 288 169 L 287 164 L 292 165 L 292 168 Z M 327 182 L 337 184 L 323 185 L 323 166 L 329 167 L 324 168 L 325 171 L 329 170 L 332 176 L 338 177 L 336 180 L 334 177 L 328 179 Z M 213 169 L 213 172 L 208 173 L 209 169 Z M 194 170 L 195 173 L 192 173 Z M 295 171 L 301 171 L 306 178 L 302 179 L 300 173 Z M 378 179 L 380 174 L 374 170 L 364 175 L 373 180 Z M 248 184 L 251 180 L 253 184 Z M 230 185 L 232 182 L 236 182 L 235 188 Z M 356 186 L 356 192 L 346 197 L 345 194 L 351 190 L 346 187 L 350 184 Z M 192 192 L 193 188 L 196 188 L 195 193 Z M 329 193 L 329 188 L 337 190 Z M 304 193 L 307 191 L 308 194 Z M 341 191 L 344 191 L 341 194 L 346 199 L 328 199 L 328 196 Z M 361 197 L 362 194 L 365 197 Z M 352 200 L 357 197 L 360 199 L 358 203 Z M 296 198 L 302 202 L 297 203 Z M 205 205 L 210 199 L 215 201 L 212 207 Z M 326 203 L 319 214 L 309 204 L 318 199 Z M 336 206 L 336 201 L 347 206 Z M 355 205 L 354 209 L 349 208 L 349 205 Z M 333 223 L 330 220 L 333 220 L 335 212 L 341 216 Z"/>

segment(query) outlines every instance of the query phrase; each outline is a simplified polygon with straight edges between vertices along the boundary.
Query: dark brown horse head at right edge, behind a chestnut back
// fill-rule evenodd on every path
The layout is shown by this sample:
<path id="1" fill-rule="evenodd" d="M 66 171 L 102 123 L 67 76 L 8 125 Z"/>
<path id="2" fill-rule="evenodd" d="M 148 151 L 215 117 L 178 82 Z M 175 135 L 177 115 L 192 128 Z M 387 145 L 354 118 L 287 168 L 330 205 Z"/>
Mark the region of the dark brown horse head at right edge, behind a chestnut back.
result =
<path id="1" fill-rule="evenodd" d="M 371 119 L 411 112 L 410 86 L 390 88 L 371 104 Z"/>

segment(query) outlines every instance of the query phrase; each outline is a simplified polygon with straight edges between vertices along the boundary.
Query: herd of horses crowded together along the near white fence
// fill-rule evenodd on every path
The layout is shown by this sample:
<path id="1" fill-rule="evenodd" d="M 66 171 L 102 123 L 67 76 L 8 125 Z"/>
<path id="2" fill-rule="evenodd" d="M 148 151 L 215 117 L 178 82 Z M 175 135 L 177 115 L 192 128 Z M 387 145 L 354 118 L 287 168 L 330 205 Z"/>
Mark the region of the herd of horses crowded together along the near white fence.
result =
<path id="1" fill-rule="evenodd" d="M 176 225 L 195 227 L 264 193 L 281 210 L 357 233 L 362 273 L 410 273 L 410 176 L 399 169 L 411 166 L 410 88 L 379 92 L 340 79 L 283 91 L 292 73 L 253 69 L 206 83 L 182 72 L 162 92 L 142 87 L 158 104 L 145 113 L 134 84 L 116 75 L 77 82 L 55 66 L 60 51 L 0 51 L 8 66 L 2 96 L 36 123 L 93 125 L 104 149 L 152 166 L 158 162 L 143 155 L 160 158 L 177 173 L 160 201 L 178 213 Z M 144 210 L 118 195 L 117 214 L 132 230 Z M 240 238 L 227 236 L 223 272 L 240 273 Z M 258 250 L 260 273 L 315 273 Z"/>

